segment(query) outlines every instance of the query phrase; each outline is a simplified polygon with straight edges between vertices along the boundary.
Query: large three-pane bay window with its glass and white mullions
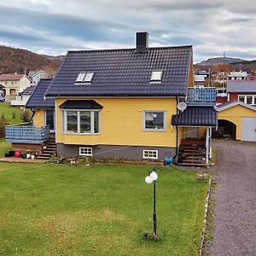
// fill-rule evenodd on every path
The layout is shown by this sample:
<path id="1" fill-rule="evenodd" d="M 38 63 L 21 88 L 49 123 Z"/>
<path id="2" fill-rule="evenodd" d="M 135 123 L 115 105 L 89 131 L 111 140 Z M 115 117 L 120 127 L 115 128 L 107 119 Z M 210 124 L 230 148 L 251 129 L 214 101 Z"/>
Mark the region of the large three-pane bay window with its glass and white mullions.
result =
<path id="1" fill-rule="evenodd" d="M 99 116 L 98 110 L 63 110 L 62 131 L 77 134 L 99 133 Z"/>

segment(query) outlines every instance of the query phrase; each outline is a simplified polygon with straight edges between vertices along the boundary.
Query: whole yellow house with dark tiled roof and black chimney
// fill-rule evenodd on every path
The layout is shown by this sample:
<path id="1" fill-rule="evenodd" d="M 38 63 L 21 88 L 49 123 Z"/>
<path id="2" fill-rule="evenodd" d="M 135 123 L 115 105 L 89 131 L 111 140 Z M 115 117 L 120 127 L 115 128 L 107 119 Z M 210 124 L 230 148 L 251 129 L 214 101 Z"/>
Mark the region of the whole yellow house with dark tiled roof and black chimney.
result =
<path id="1" fill-rule="evenodd" d="M 44 96 L 52 101 L 57 154 L 208 163 L 216 90 L 188 90 L 191 46 L 148 48 L 148 33 L 137 33 L 135 49 L 69 51 L 45 94 L 42 82 L 26 108 L 34 111 L 32 128 L 45 128 Z M 189 159 L 188 146 L 200 152 Z"/>

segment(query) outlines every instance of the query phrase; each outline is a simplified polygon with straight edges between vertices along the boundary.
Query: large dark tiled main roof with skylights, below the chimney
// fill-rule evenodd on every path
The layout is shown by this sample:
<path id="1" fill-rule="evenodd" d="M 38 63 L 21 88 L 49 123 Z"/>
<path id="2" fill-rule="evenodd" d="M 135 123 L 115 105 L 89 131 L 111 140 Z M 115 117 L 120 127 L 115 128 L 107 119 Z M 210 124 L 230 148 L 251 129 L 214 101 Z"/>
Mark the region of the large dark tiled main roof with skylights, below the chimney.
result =
<path id="1" fill-rule="evenodd" d="M 69 51 L 46 96 L 185 96 L 192 47 Z M 149 83 L 162 70 L 161 83 Z M 91 84 L 75 84 L 94 72 Z"/>

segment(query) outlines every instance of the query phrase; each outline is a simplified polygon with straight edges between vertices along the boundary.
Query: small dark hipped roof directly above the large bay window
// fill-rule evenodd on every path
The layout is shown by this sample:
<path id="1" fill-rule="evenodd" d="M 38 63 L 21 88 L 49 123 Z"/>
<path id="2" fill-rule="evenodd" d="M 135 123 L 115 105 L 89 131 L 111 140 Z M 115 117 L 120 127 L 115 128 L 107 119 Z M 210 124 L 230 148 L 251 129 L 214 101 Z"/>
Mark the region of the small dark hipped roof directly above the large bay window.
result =
<path id="1" fill-rule="evenodd" d="M 93 100 L 67 100 L 62 103 L 60 108 L 63 109 L 102 109 L 102 105 Z"/>

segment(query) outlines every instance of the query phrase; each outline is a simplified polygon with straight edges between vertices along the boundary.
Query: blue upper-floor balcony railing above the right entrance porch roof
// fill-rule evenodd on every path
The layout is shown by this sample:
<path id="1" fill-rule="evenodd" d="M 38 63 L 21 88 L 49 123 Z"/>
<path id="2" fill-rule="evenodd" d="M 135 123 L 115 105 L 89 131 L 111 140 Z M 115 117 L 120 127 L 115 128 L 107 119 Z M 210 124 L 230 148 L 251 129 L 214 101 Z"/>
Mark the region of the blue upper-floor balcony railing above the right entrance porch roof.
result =
<path id="1" fill-rule="evenodd" d="M 189 88 L 187 103 L 191 105 L 213 106 L 216 102 L 216 88 Z"/>

